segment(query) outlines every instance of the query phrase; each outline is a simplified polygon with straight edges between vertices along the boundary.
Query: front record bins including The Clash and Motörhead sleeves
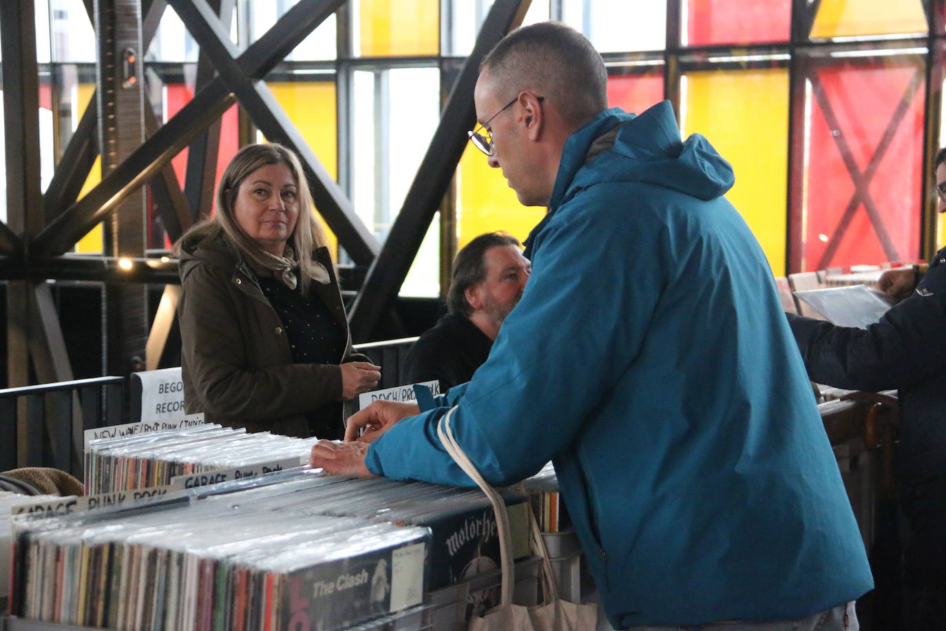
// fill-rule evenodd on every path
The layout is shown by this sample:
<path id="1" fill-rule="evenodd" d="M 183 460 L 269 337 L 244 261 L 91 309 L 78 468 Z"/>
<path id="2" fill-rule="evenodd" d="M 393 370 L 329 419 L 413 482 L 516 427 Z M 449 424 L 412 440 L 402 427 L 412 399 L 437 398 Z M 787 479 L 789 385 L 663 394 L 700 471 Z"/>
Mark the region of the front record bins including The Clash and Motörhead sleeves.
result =
<path id="1" fill-rule="evenodd" d="M 505 497 L 527 556 L 526 497 Z M 499 559 L 478 489 L 312 470 L 15 526 L 11 612 L 112 629 L 344 629 Z"/>

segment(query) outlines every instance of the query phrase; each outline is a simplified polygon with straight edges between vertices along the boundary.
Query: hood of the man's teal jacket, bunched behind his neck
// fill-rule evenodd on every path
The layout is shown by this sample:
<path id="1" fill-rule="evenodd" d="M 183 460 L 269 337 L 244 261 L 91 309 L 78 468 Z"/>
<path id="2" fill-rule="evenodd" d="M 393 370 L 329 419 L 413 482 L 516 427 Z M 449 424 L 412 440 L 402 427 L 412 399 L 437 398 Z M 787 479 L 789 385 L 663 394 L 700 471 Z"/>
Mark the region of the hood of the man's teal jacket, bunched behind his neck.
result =
<path id="1" fill-rule="evenodd" d="M 592 163 L 594 167 L 582 168 Z M 621 108 L 605 110 L 571 134 L 562 151 L 550 210 L 582 188 L 605 182 L 658 184 L 712 200 L 724 195 L 735 178 L 732 167 L 705 137 L 694 133 L 681 142 L 670 101 L 662 101 L 640 115 Z"/>

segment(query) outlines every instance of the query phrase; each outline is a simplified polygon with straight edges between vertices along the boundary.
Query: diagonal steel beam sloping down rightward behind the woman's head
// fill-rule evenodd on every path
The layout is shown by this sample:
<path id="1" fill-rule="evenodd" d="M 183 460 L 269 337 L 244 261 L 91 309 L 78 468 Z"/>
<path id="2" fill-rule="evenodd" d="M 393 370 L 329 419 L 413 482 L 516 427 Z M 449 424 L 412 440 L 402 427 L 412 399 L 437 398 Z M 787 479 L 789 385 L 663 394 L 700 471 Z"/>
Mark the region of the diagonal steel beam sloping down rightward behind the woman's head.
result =
<path id="1" fill-rule="evenodd" d="M 220 79 L 236 93 L 236 99 L 250 114 L 257 128 L 273 142 L 293 149 L 302 159 L 312 200 L 320 214 L 339 237 L 351 257 L 367 265 L 374 260 L 378 247 L 375 237 L 355 214 L 342 188 L 325 170 L 306 139 L 280 107 L 269 87 L 261 80 L 249 79 L 236 61 L 236 47 L 220 24 L 215 11 L 205 0 L 169 0 L 184 26 L 201 45 L 201 51 L 213 62 Z M 341 0 L 337 2 L 341 4 Z"/>

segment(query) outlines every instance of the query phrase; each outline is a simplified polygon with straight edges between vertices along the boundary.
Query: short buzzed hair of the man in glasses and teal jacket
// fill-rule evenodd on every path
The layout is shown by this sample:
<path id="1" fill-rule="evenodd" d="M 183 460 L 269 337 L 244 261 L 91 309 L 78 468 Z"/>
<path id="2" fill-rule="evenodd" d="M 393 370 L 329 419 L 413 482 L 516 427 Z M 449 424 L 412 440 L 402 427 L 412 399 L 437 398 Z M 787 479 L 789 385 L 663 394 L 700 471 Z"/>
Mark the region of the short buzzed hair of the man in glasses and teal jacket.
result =
<path id="1" fill-rule="evenodd" d="M 500 86 L 544 96 L 576 127 L 607 109 L 607 70 L 601 55 L 587 37 L 561 22 L 517 28 L 486 55 L 480 64 L 484 70 Z"/>

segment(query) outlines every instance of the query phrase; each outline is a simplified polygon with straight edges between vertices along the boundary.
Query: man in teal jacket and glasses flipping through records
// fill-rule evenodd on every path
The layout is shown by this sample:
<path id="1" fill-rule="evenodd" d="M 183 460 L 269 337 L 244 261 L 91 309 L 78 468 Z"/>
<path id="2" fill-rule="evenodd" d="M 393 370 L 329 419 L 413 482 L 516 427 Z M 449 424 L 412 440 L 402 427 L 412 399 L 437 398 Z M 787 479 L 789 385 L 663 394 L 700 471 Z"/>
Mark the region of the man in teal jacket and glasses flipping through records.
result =
<path id="1" fill-rule="evenodd" d="M 605 109 L 605 84 L 555 23 L 483 61 L 471 137 L 549 212 L 457 440 L 493 484 L 552 460 L 618 628 L 856 628 L 864 544 L 772 273 L 722 197 L 732 169 L 702 136 L 681 143 L 669 103 Z M 374 442 L 321 443 L 312 464 L 471 485 L 437 439 L 447 408 L 417 412 L 360 412 L 349 437 Z"/>

